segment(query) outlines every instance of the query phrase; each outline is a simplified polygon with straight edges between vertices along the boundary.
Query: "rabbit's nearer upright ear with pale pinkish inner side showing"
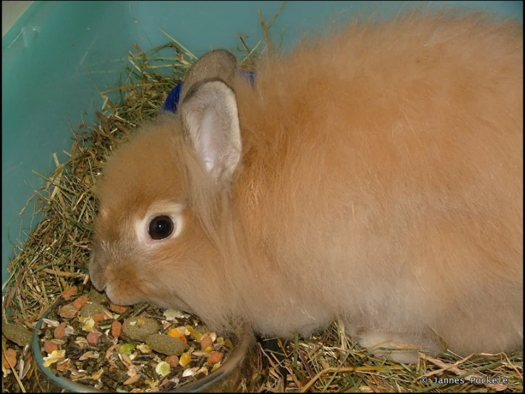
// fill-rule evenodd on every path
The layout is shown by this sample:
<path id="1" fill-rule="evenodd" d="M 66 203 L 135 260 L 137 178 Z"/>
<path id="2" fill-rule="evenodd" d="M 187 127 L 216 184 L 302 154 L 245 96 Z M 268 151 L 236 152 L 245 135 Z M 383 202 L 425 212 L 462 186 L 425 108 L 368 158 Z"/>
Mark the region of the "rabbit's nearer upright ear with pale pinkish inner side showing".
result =
<path id="1" fill-rule="evenodd" d="M 241 159 L 235 92 L 222 80 L 194 84 L 180 109 L 189 142 L 214 180 L 231 181 Z"/>

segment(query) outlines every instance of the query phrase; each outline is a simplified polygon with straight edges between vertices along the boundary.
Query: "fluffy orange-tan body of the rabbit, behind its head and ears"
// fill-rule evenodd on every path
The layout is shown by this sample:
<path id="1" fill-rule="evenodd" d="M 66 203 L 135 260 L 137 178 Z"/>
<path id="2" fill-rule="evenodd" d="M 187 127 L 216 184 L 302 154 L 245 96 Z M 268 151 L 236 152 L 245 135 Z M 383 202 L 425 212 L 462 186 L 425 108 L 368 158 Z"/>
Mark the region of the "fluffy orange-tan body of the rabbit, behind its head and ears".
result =
<path id="1" fill-rule="evenodd" d="M 516 332 L 522 47 L 513 22 L 416 12 L 304 41 L 239 82 L 235 209 L 255 270 L 281 274 L 244 291 L 445 331 L 484 305 L 480 330 L 516 316 Z"/>

